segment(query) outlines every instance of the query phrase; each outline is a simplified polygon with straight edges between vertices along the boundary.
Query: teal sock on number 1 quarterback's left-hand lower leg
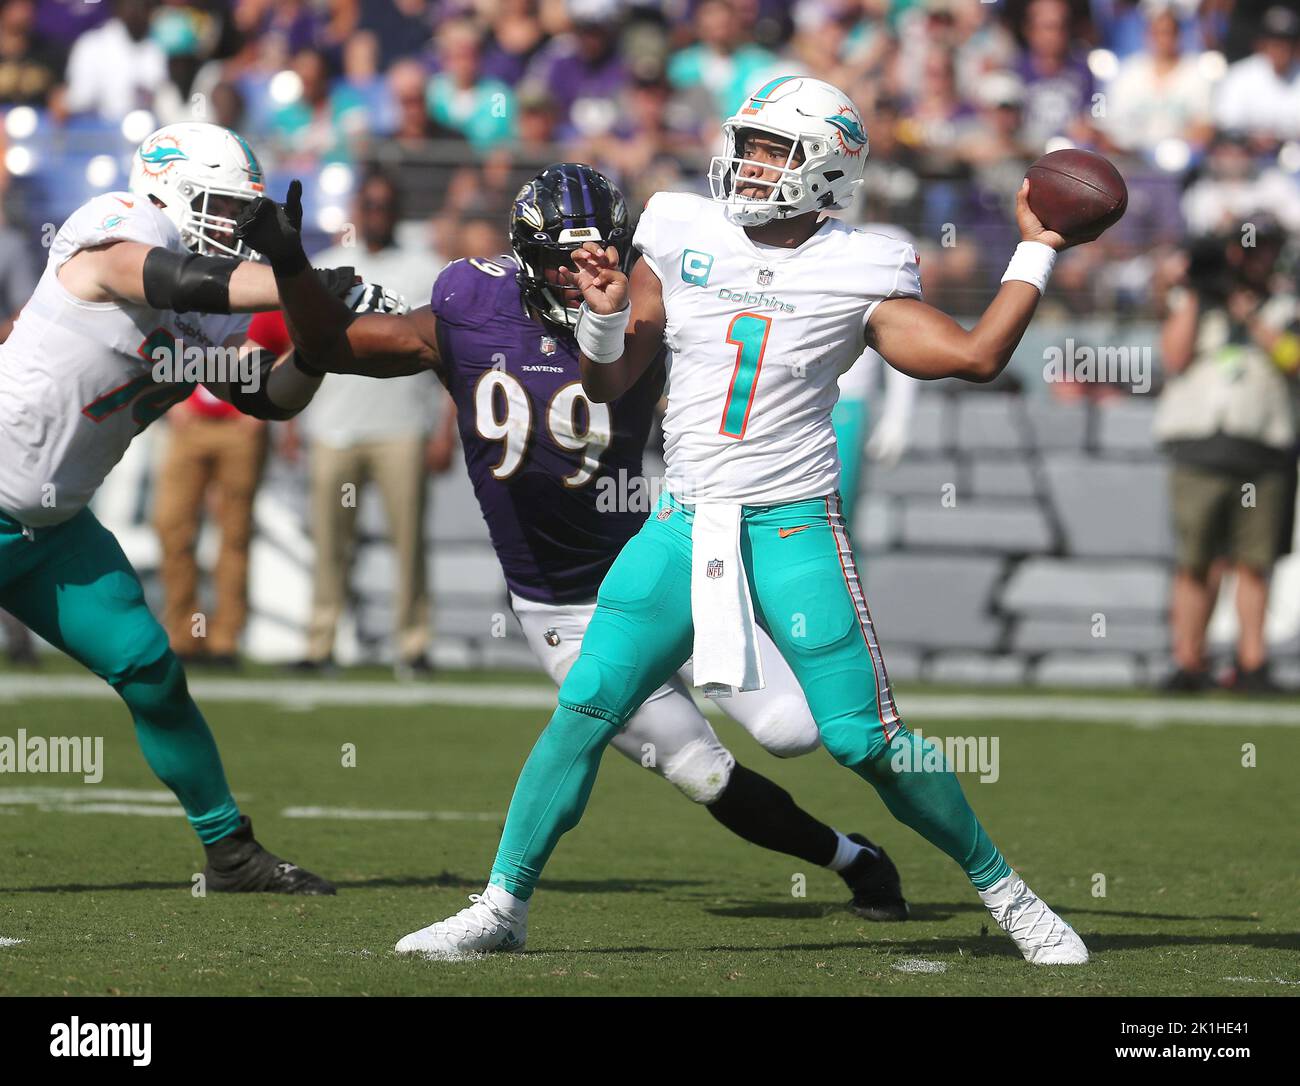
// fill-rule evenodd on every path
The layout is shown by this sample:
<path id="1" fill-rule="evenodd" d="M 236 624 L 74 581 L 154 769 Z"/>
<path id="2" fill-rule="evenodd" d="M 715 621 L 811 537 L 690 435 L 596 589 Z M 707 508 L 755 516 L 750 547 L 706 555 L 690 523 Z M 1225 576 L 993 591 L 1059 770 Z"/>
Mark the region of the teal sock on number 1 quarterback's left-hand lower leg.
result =
<path id="1" fill-rule="evenodd" d="M 601 754 L 618 728 L 604 719 L 555 709 L 519 774 L 491 882 L 528 900 L 559 839 L 586 808 Z"/>

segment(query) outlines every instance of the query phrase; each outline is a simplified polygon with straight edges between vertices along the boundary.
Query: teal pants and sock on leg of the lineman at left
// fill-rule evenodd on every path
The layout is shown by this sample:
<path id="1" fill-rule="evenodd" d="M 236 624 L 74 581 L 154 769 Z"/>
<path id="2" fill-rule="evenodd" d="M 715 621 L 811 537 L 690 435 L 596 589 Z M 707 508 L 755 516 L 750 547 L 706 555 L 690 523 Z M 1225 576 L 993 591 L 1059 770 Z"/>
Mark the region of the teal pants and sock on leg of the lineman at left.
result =
<path id="1" fill-rule="evenodd" d="M 117 691 L 150 769 L 204 844 L 238 828 L 239 808 L 181 661 L 122 548 L 88 509 L 27 531 L 0 514 L 0 607 Z"/>

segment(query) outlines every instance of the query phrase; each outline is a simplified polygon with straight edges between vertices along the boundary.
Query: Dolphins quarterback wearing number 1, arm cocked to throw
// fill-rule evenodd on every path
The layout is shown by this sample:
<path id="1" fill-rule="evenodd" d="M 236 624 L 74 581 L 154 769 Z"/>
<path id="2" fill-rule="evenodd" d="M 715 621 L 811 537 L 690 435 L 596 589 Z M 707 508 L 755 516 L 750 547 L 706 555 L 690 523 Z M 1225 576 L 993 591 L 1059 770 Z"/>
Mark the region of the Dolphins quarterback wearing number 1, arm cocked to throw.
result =
<path id="1" fill-rule="evenodd" d="M 901 822 L 952 857 L 1027 961 L 1082 964 L 1075 931 L 1011 870 L 941 752 L 904 727 L 841 515 L 835 380 L 874 347 L 919 378 L 992 380 L 1010 360 L 1056 252 L 1089 238 L 1044 229 L 1017 195 L 1023 238 L 1002 287 L 965 330 L 920 300 L 910 245 L 820 212 L 861 185 L 867 135 L 846 95 L 780 77 L 723 125 L 714 202 L 651 198 L 630 284 L 618 254 L 575 252 L 582 388 L 614 399 L 672 350 L 668 493 L 601 584 L 582 653 L 524 765 L 486 891 L 398 948 L 510 951 L 599 757 L 628 715 L 694 654 L 694 682 L 762 685 L 755 624 L 798 676 L 822 740 Z"/>

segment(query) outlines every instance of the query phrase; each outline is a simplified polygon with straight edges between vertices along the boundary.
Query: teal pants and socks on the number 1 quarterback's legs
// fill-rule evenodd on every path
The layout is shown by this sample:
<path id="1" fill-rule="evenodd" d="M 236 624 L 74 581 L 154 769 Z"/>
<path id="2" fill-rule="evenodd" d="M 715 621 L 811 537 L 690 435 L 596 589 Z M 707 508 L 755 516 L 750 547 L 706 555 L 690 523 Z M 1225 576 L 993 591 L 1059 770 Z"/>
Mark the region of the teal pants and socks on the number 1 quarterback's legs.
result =
<path id="1" fill-rule="evenodd" d="M 515 787 L 493 865 L 491 881 L 519 897 L 532 895 L 559 838 L 582 817 L 606 744 L 690 656 L 690 509 L 666 496 L 601 585 L 582 653 Z M 800 680 L 831 756 L 976 887 L 1009 874 L 957 778 L 933 769 L 933 753 L 927 758 L 898 718 L 838 497 L 746 507 L 741 553 L 758 620 Z"/>

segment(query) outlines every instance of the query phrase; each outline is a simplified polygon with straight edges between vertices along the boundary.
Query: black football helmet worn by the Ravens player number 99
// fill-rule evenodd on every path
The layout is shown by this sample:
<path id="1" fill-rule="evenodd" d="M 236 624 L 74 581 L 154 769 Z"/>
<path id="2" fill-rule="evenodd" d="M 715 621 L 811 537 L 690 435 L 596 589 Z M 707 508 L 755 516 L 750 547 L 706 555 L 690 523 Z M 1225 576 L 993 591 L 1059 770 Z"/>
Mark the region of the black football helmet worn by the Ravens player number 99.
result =
<path id="1" fill-rule="evenodd" d="M 569 332 L 577 310 L 564 304 L 564 287 L 546 281 L 547 269 L 573 271 L 569 254 L 586 242 L 614 246 L 619 267 L 632 255 L 628 205 L 618 186 L 581 163 L 556 163 L 529 181 L 510 212 L 510 245 L 519 263 L 524 300 L 547 323 Z"/>

